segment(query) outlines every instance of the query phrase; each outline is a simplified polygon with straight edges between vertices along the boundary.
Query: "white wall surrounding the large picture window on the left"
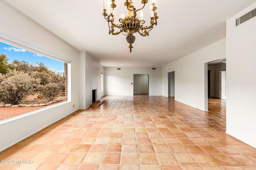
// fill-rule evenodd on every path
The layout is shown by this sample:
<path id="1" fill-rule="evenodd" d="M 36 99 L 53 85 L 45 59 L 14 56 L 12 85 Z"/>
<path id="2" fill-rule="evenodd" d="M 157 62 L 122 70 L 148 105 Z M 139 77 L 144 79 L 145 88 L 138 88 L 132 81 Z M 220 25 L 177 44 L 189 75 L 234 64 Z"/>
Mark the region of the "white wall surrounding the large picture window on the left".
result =
<path id="1" fill-rule="evenodd" d="M 0 150 L 25 139 L 78 109 L 78 51 L 0 1 L 0 36 L 30 48 L 71 61 L 70 101 L 0 122 Z M 69 88 L 69 89 L 70 89 Z M 75 104 L 76 107 L 72 107 Z"/>

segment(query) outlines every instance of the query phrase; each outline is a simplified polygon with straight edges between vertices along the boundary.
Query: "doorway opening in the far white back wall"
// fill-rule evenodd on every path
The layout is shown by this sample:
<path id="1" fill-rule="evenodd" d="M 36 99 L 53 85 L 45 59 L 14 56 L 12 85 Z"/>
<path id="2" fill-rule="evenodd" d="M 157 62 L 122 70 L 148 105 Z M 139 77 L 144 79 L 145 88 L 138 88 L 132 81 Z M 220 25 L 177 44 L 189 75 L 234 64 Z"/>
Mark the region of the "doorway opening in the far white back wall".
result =
<path id="1" fill-rule="evenodd" d="M 148 95 L 149 94 L 149 74 L 133 75 L 133 94 Z"/>

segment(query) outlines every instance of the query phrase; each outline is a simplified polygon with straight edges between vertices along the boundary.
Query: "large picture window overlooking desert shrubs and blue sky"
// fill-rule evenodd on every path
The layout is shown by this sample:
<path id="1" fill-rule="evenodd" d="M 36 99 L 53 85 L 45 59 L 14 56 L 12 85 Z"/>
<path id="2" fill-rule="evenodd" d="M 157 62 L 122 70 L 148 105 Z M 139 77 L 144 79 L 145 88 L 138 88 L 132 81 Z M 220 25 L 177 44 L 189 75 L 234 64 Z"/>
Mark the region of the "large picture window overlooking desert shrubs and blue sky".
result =
<path id="1" fill-rule="evenodd" d="M 53 58 L 0 42 L 0 121 L 67 100 L 68 63 Z"/>

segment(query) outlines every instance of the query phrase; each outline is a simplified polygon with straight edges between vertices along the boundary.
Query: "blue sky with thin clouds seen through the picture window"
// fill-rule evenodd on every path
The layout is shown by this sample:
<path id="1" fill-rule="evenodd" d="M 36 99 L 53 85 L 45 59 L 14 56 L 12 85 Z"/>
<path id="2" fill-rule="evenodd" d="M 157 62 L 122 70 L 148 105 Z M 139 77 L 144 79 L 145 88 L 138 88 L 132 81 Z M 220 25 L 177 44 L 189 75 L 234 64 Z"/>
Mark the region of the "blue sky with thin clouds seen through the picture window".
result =
<path id="1" fill-rule="evenodd" d="M 12 63 L 14 59 L 19 61 L 24 60 L 34 65 L 36 62 L 42 62 L 53 71 L 64 72 L 64 63 L 62 61 L 40 56 L 35 53 L 31 53 L 30 51 L 26 51 L 2 42 L 0 42 L 0 53 L 6 55 L 6 57 L 9 59 L 9 63 Z"/>

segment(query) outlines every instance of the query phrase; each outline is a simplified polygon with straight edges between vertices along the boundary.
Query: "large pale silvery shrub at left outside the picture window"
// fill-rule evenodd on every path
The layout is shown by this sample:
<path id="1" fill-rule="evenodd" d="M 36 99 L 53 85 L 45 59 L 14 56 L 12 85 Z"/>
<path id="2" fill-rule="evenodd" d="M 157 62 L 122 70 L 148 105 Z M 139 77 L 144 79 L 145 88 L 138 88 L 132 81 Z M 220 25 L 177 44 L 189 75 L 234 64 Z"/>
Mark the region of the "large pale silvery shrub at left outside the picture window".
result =
<path id="1" fill-rule="evenodd" d="M 0 78 L 0 100 L 4 103 L 18 104 L 32 94 L 36 83 L 34 78 L 23 71 L 7 70 Z"/>

